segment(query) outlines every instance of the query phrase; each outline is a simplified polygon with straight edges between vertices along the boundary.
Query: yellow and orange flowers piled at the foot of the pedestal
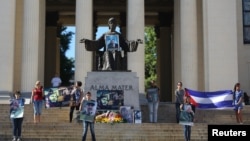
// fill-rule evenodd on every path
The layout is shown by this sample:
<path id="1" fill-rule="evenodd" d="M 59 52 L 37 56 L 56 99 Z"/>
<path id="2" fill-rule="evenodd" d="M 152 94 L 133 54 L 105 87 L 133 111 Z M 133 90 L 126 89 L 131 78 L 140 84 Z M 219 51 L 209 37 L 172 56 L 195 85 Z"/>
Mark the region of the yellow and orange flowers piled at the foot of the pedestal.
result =
<path id="1" fill-rule="evenodd" d="M 120 113 L 110 112 L 110 111 L 97 115 L 95 121 L 97 123 L 111 123 L 111 124 L 124 122 Z"/>

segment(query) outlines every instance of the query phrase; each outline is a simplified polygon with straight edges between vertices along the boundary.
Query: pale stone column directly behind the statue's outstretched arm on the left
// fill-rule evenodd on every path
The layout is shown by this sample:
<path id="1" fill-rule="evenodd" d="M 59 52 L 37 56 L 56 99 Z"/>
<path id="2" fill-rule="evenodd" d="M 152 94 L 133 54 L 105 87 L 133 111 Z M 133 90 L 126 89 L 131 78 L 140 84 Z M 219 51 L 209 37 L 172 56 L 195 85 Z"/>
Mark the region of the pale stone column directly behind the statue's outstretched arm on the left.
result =
<path id="1" fill-rule="evenodd" d="M 82 38 L 93 39 L 93 1 L 76 0 L 75 81 L 85 83 L 87 72 L 92 70 L 93 53 L 85 50 Z"/>

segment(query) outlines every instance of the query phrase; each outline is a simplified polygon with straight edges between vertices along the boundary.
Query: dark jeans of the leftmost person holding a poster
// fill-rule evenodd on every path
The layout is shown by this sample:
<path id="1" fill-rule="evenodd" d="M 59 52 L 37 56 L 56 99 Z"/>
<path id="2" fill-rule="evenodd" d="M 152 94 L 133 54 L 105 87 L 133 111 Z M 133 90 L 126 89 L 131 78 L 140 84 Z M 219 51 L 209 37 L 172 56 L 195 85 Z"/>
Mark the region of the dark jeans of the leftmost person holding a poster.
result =
<path id="1" fill-rule="evenodd" d="M 15 137 L 21 137 L 23 118 L 11 118 L 12 134 Z"/>

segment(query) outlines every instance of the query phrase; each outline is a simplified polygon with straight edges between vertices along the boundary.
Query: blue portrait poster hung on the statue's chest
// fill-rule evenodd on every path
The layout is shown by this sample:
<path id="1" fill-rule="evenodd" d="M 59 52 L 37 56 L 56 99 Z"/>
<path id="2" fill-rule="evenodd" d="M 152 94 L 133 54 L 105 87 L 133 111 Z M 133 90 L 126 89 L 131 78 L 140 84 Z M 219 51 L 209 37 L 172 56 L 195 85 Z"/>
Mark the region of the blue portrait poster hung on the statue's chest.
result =
<path id="1" fill-rule="evenodd" d="M 118 35 L 105 35 L 105 45 L 107 51 L 120 51 Z"/>

